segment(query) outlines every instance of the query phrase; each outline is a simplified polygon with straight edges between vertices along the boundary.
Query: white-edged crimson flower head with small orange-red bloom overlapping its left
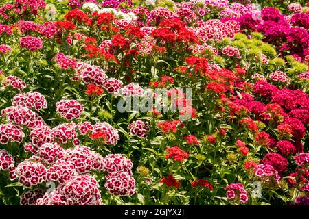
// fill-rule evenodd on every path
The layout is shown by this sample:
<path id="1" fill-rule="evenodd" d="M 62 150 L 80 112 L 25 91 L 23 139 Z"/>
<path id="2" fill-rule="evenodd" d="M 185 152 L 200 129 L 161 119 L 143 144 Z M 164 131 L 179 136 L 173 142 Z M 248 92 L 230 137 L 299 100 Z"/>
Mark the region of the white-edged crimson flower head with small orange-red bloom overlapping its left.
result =
<path id="1" fill-rule="evenodd" d="M 107 145 L 116 145 L 119 138 L 118 130 L 112 127 L 110 124 L 104 123 L 96 123 L 93 125 L 92 133 L 99 133 L 104 137 L 104 144 Z"/>

